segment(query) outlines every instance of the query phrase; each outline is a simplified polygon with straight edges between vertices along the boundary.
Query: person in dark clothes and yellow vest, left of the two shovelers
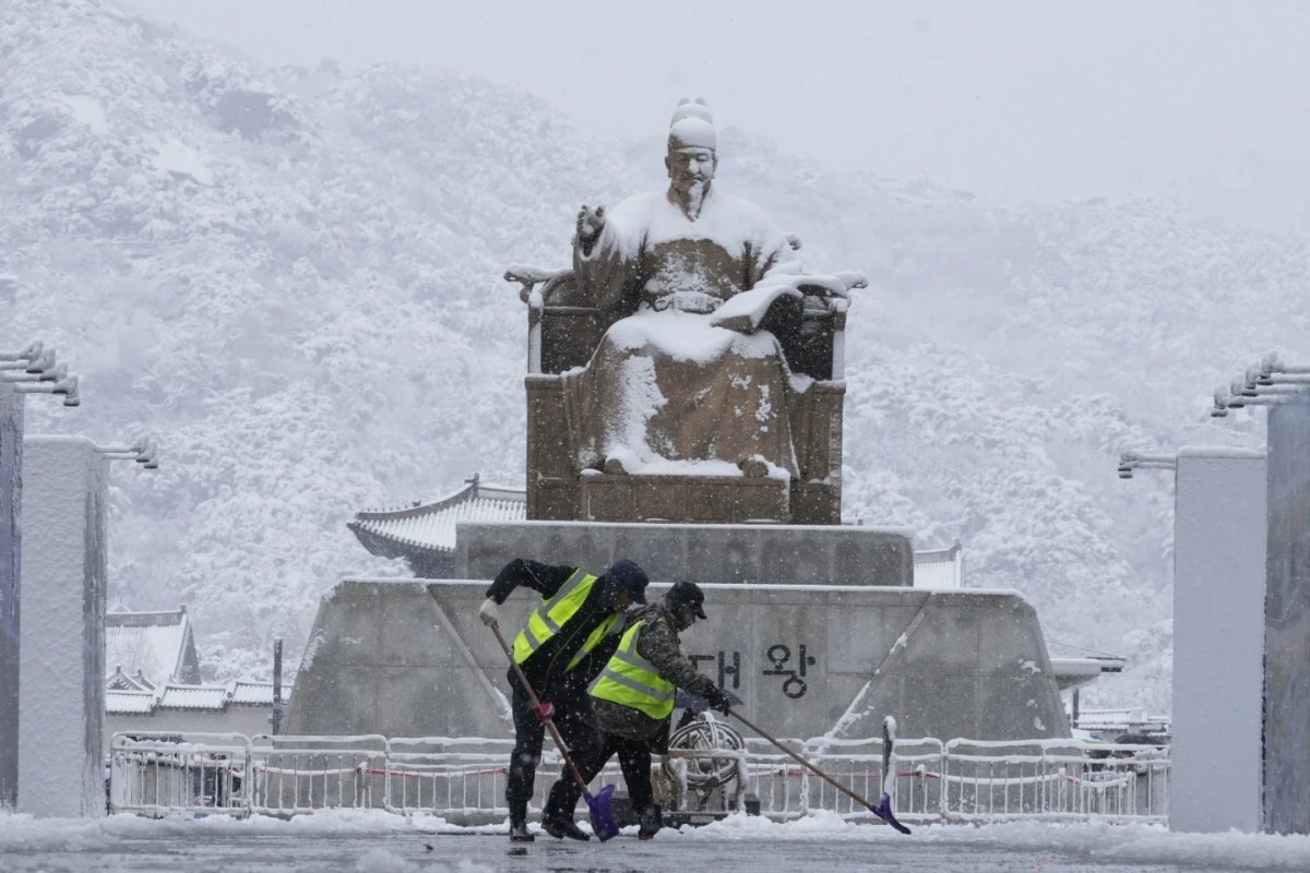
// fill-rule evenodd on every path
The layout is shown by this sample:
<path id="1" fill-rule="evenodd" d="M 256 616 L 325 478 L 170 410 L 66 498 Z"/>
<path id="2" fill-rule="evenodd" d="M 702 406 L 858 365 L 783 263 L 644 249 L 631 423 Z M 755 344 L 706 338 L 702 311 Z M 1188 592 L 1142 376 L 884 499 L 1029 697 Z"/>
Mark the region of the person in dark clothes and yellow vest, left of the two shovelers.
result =
<path id="1" fill-rule="evenodd" d="M 510 805 L 511 840 L 533 839 L 528 830 L 528 801 L 541 760 L 546 719 L 554 721 L 574 753 L 603 743 L 587 686 L 618 647 L 624 611 L 633 603 L 646 603 L 647 581 L 646 572 L 630 560 L 616 561 L 603 576 L 593 576 L 580 567 L 516 558 L 487 588 L 478 609 L 485 624 L 499 624 L 500 605 L 516 588 L 531 588 L 542 598 L 514 637 L 514 660 L 536 691 L 540 709 L 533 709 L 514 669 L 508 671 L 515 742 L 504 797 Z M 587 838 L 572 822 L 570 826 L 576 831 L 570 836 Z"/>

